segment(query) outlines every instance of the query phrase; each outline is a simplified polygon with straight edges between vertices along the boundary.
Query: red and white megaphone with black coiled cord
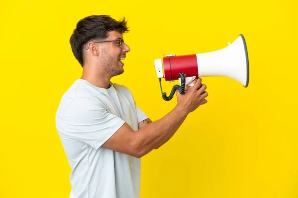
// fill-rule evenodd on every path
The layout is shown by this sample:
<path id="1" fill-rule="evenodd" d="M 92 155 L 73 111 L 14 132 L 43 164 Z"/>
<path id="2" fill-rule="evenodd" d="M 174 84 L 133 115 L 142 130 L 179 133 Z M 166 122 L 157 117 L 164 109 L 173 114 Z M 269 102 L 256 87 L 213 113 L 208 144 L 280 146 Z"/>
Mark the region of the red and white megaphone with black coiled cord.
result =
<path id="1" fill-rule="evenodd" d="M 186 85 L 193 86 L 195 78 L 206 76 L 223 76 L 234 79 L 245 88 L 249 82 L 249 63 L 247 46 L 242 34 L 228 46 L 216 51 L 179 55 L 168 54 L 163 59 L 155 59 L 155 70 L 159 78 L 162 98 L 169 101 L 178 89 L 184 94 Z M 162 92 L 161 78 L 165 81 L 179 80 L 180 85 L 174 85 L 170 95 Z"/>

